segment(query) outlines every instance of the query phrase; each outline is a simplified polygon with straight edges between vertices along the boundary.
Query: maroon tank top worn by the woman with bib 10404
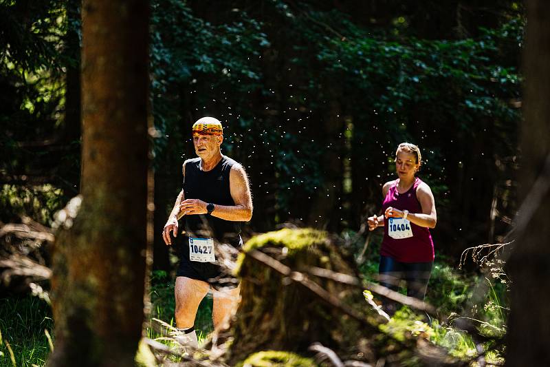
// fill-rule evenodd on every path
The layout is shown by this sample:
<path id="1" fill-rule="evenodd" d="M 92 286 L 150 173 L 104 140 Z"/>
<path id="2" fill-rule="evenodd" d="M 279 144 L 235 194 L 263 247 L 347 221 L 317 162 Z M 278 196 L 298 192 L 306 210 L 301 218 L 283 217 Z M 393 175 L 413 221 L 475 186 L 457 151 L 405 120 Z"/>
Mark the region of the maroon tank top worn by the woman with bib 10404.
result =
<path id="1" fill-rule="evenodd" d="M 415 183 L 405 193 L 397 191 L 397 180 L 391 185 L 382 202 L 382 213 L 388 207 L 399 210 L 408 210 L 409 213 L 421 213 L 422 208 L 417 199 L 417 187 L 422 183 L 420 178 L 415 178 Z M 384 222 L 387 219 L 384 218 Z M 434 260 L 434 242 L 430 230 L 419 227 L 410 222 L 412 237 L 396 240 L 388 235 L 388 226 L 384 225 L 384 240 L 380 255 L 388 256 L 398 262 L 432 262 Z"/>

